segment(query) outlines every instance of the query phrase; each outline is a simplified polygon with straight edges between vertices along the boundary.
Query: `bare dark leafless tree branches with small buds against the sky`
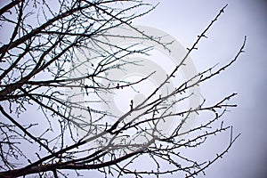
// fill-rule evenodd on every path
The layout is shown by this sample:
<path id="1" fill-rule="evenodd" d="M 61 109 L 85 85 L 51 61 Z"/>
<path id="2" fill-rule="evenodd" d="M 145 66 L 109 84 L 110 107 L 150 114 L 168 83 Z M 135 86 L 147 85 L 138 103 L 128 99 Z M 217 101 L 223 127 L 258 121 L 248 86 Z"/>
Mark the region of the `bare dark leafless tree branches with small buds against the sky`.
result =
<path id="1" fill-rule="evenodd" d="M 64 169 L 77 175 L 85 169 L 117 177 L 177 172 L 195 177 L 223 157 L 239 136 L 233 136 L 232 127 L 222 121 L 227 109 L 236 107 L 228 103 L 236 93 L 210 106 L 202 99 L 193 108 L 173 108 L 199 94 L 194 92 L 198 85 L 231 66 L 244 52 L 246 37 L 227 65 L 199 72 L 167 93 L 160 90 L 198 49 L 198 42 L 206 38 L 226 6 L 146 98 L 139 103 L 129 99 L 128 110 L 121 116 L 114 114 L 106 98 L 125 88 L 136 90 L 136 85 L 157 73 L 134 81 L 112 78 L 113 71 L 142 68 L 142 61 L 130 57 L 150 55 L 153 49 L 153 45 L 116 44 L 112 37 L 152 41 L 172 53 L 172 41 L 132 25 L 154 8 L 139 0 L 13 0 L 1 8 L 0 177 L 68 177 Z M 114 33 L 118 28 L 132 30 L 133 35 Z M 183 129 L 191 117 L 202 113 L 211 113 L 209 119 Z M 170 119 L 177 125 L 166 134 L 161 125 Z M 224 131 L 230 132 L 230 142 L 213 159 L 183 155 L 182 150 L 197 150 L 208 137 Z M 150 160 L 150 170 L 135 167 L 140 158 Z"/>

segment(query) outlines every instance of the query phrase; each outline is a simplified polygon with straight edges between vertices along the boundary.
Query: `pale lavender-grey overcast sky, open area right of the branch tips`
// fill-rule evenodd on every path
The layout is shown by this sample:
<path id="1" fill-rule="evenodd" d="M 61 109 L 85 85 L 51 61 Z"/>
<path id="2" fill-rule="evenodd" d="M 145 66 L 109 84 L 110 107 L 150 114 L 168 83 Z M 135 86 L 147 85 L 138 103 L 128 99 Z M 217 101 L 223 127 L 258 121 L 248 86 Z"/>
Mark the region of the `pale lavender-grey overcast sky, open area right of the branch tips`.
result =
<path id="1" fill-rule="evenodd" d="M 206 170 L 206 177 L 263 178 L 264 173 L 267 174 L 267 3 L 263 0 L 161 1 L 156 10 L 138 20 L 138 24 L 160 28 L 189 47 L 225 4 L 228 4 L 225 13 L 191 58 L 198 71 L 218 62 L 226 64 L 247 36 L 246 53 L 239 61 L 220 77 L 201 86 L 202 93 L 210 101 L 238 93 L 232 101 L 239 107 L 231 109 L 225 115 L 225 121 L 233 125 L 234 134 L 241 133 L 241 137 L 223 159 Z M 205 158 L 212 150 L 222 150 L 227 139 L 214 138 L 199 154 Z"/>

